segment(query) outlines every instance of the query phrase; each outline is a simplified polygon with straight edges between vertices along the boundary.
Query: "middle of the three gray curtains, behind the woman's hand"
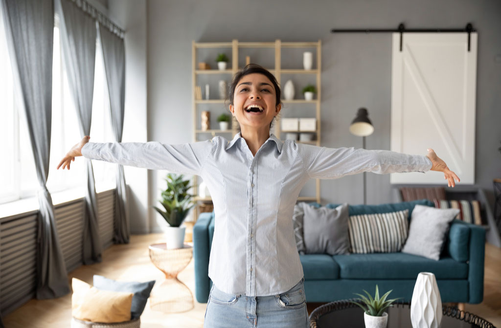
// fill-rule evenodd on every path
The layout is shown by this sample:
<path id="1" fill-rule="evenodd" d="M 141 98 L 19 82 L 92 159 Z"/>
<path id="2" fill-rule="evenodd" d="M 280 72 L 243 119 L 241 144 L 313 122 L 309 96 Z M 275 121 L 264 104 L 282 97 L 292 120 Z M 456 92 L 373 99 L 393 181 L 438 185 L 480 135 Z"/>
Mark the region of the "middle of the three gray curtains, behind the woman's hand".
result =
<path id="1" fill-rule="evenodd" d="M 94 65 L 96 60 L 96 21 L 70 0 L 55 0 L 59 30 L 70 91 L 77 108 L 82 138 L 91 132 Z M 101 240 L 97 217 L 94 171 L 87 165 L 86 215 L 83 234 L 84 264 L 101 262 Z"/>

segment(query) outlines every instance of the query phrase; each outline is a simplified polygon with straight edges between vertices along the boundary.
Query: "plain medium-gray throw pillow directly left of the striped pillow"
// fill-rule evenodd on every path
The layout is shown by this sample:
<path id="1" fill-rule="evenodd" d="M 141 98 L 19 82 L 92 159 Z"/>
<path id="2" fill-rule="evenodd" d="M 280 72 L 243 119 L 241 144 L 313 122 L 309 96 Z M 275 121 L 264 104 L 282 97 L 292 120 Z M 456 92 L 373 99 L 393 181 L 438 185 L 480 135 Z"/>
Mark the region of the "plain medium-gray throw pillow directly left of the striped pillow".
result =
<path id="1" fill-rule="evenodd" d="M 348 204 L 345 203 L 336 208 L 314 208 L 301 203 L 298 205 L 305 213 L 303 232 L 307 254 L 349 253 Z"/>

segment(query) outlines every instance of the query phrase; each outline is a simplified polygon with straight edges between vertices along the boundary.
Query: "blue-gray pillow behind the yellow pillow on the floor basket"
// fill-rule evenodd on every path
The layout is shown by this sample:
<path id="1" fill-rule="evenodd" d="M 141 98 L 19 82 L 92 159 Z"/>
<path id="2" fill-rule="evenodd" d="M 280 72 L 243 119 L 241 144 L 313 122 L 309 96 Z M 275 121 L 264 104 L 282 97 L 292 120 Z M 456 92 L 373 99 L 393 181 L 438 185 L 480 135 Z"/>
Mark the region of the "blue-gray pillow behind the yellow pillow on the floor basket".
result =
<path id="1" fill-rule="evenodd" d="M 97 274 L 94 274 L 93 282 L 94 287 L 97 289 L 134 293 L 130 308 L 131 319 L 136 319 L 141 316 L 144 306 L 146 305 L 146 301 L 148 300 L 148 297 L 150 297 L 151 289 L 155 284 L 155 280 L 146 282 L 116 281 Z"/>

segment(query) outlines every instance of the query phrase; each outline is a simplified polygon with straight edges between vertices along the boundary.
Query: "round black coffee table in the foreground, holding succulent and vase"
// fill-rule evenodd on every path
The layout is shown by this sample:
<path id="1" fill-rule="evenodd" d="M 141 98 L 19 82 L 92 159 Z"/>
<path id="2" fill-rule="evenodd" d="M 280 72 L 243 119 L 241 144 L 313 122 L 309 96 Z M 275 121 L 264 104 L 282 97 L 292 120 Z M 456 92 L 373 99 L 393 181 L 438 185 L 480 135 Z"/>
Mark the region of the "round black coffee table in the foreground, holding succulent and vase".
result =
<path id="1" fill-rule="evenodd" d="M 388 328 L 412 328 L 410 303 L 396 303 L 388 308 Z M 442 306 L 442 328 L 495 328 L 485 319 L 456 307 Z M 364 311 L 348 300 L 330 302 L 310 314 L 310 328 L 364 328 Z"/>

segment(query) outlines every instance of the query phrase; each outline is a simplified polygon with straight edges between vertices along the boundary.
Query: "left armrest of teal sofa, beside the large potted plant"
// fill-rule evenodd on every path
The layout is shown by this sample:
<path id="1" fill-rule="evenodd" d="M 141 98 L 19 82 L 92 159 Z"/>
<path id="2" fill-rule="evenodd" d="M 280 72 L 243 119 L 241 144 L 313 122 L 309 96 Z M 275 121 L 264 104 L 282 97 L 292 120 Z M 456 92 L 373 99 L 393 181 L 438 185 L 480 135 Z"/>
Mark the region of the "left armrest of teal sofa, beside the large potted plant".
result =
<path id="1" fill-rule="evenodd" d="M 193 260 L 195 265 L 195 297 L 200 303 L 209 299 L 209 224 L 213 212 L 200 213 L 193 226 Z"/>

